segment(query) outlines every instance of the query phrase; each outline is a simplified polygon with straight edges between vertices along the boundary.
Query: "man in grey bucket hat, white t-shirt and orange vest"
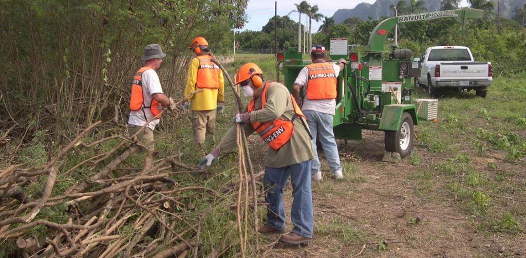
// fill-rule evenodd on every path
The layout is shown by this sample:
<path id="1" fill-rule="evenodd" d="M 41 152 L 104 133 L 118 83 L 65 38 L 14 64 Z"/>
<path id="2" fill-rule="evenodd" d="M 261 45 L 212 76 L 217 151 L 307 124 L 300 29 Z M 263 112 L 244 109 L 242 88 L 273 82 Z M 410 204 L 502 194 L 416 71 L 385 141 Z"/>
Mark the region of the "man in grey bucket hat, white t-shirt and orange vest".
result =
<path id="1" fill-rule="evenodd" d="M 128 134 L 130 136 L 136 134 L 144 124 L 156 117 L 137 135 L 137 139 L 148 151 L 155 150 L 154 130 L 159 123 L 159 112 L 163 108 L 169 108 L 171 111 L 177 108 L 174 100 L 163 93 L 159 76 L 155 72 L 165 56 L 166 54 L 163 53 L 159 45 L 147 45 L 141 58 L 144 64 L 135 73 L 131 84 Z"/>

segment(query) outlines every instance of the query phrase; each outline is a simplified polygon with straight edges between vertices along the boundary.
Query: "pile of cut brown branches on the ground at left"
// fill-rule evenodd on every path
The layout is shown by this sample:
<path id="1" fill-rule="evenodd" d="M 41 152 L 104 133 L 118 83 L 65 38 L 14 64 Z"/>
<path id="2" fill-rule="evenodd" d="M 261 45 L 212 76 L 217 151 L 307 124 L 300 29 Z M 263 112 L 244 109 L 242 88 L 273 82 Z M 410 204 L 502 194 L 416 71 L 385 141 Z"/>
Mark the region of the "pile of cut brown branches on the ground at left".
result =
<path id="1" fill-rule="evenodd" d="M 81 141 L 100 124 L 85 128 L 45 164 L 16 164 L 0 171 L 0 241 L 18 247 L 8 254 L 185 257 L 193 253 L 195 257 L 217 257 L 231 247 L 244 250 L 246 235 L 240 241 L 243 238 L 238 239 L 234 224 L 250 220 L 250 200 L 247 197 L 245 204 L 240 203 L 239 185 L 248 186 L 246 182 L 261 177 L 262 172 L 244 177 L 245 183 L 234 177 L 206 187 L 201 181 L 184 178 L 209 172 L 185 165 L 176 156 L 157 159 L 156 153 L 148 152 L 142 169 L 123 175 L 119 165 L 144 147 L 134 136 L 114 135 L 90 144 Z M 64 165 L 67 154 L 115 139 L 120 142 L 112 150 Z M 71 178 L 77 180 L 56 187 Z M 28 191 L 35 184 L 41 186 L 38 191 Z M 249 191 L 248 187 L 243 191 Z M 237 214 L 231 212 L 236 203 Z M 56 211 L 62 215 L 57 216 Z M 208 219 L 213 212 L 222 214 L 223 220 Z M 223 227 L 214 225 L 207 234 L 201 233 L 210 221 Z M 221 234 L 216 242 L 208 239 L 213 231 Z"/>

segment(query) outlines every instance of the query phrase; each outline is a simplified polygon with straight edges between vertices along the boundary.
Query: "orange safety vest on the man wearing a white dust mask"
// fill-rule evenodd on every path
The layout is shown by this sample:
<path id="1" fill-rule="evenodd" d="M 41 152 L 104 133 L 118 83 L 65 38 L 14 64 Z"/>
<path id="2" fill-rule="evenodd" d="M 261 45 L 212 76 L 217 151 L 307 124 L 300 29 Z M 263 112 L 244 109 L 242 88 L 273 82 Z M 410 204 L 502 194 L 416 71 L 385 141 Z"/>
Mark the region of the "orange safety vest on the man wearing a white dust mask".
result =
<path id="1" fill-rule="evenodd" d="M 267 102 L 267 97 L 265 95 L 267 94 L 268 85 L 270 85 L 270 83 L 265 84 L 263 92 L 261 93 L 261 109 L 265 106 L 265 103 Z M 298 116 L 301 116 L 305 119 L 305 115 L 301 112 L 300 108 L 298 107 L 298 104 L 296 104 L 296 101 L 294 100 L 294 97 L 292 97 L 292 95 L 290 95 L 290 100 L 292 100 L 292 106 L 294 107 L 294 112 L 296 113 L 296 115 L 292 117 L 291 121 L 281 120 L 278 118 L 272 122 L 254 122 L 251 124 L 252 128 L 254 128 L 256 132 L 258 132 L 259 136 L 263 139 L 263 141 L 267 143 L 274 151 L 278 151 L 279 148 L 281 148 L 283 145 L 290 141 L 290 137 L 292 136 L 292 132 L 294 131 L 294 120 Z M 248 103 L 247 106 L 248 112 L 252 112 L 255 110 L 254 105 L 255 100 L 254 98 L 252 98 L 252 100 L 250 101 L 250 103 Z"/>

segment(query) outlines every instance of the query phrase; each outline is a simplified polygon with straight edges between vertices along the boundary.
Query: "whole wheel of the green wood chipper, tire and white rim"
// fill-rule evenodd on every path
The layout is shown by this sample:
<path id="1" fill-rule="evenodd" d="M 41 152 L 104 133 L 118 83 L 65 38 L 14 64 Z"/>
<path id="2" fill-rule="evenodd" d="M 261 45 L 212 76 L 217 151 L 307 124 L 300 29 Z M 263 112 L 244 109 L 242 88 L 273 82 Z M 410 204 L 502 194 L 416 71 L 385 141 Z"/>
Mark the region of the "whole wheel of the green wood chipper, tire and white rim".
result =
<path id="1" fill-rule="evenodd" d="M 413 130 L 413 118 L 409 113 L 403 112 L 398 131 L 385 131 L 384 142 L 386 151 L 398 152 L 401 157 L 409 156 L 413 148 Z"/>

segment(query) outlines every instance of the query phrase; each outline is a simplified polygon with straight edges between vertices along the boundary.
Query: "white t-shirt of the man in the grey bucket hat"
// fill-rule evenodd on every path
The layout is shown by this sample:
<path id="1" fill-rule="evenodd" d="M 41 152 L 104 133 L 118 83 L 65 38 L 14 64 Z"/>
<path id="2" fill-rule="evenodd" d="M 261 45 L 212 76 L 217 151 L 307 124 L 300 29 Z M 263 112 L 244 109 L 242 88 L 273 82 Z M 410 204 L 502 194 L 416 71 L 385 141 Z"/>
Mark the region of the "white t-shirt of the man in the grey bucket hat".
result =
<path id="1" fill-rule="evenodd" d="M 144 124 L 146 124 L 146 122 L 148 122 L 148 120 L 151 119 L 151 117 L 154 116 L 153 114 L 151 114 L 150 108 L 144 108 L 144 106 L 149 106 L 151 104 L 151 94 L 163 93 L 163 88 L 161 88 L 159 76 L 157 76 L 155 70 L 148 69 L 144 71 L 141 81 L 143 83 L 143 108 L 137 111 L 130 111 L 130 117 L 128 119 L 128 124 L 138 126 L 143 126 Z M 157 124 L 159 124 L 159 119 L 151 121 L 147 126 L 151 130 L 155 130 L 155 126 Z"/>

